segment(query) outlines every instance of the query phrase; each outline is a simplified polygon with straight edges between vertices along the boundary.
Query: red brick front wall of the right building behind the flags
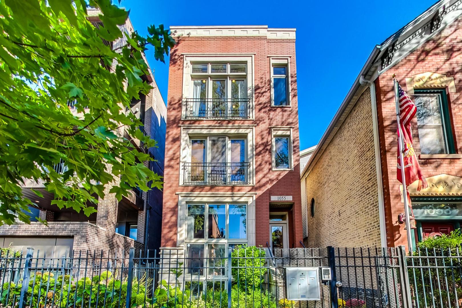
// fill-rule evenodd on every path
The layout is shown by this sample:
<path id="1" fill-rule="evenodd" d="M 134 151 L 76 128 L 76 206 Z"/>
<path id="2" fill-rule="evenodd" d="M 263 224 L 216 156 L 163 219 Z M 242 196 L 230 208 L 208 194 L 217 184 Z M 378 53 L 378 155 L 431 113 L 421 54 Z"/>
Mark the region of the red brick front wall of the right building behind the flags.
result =
<path id="1" fill-rule="evenodd" d="M 389 247 L 407 246 L 404 224 L 398 224 L 399 213 L 404 212 L 401 202 L 399 183 L 396 180 L 397 137 L 395 98 L 392 75 L 395 73 L 401 87 L 405 91 L 406 78 L 423 72 L 435 72 L 453 77 L 456 93 L 447 92 L 450 109 L 451 128 L 454 135 L 456 152 L 462 153 L 462 19 L 456 20 L 431 40 L 417 48 L 411 54 L 390 67 L 376 80 L 377 110 L 379 138 L 382 160 L 383 193 L 385 204 L 385 225 L 387 229 L 387 245 Z M 413 147 L 420 154 L 417 119 L 414 117 Z M 430 177 L 442 173 L 462 176 L 461 159 L 419 159 L 423 175 Z"/>

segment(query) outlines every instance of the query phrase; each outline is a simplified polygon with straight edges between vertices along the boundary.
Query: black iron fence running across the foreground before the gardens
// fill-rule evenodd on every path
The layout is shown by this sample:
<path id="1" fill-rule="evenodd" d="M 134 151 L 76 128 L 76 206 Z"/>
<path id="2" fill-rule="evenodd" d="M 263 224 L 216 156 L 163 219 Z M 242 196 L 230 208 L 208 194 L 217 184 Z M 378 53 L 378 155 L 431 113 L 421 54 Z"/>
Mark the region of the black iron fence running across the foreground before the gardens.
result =
<path id="1" fill-rule="evenodd" d="M 458 308 L 461 249 L 292 248 L 210 244 L 146 254 L 2 249 L 0 306 L 36 308 Z M 330 269 L 294 300 L 291 269 Z M 299 280 L 300 282 L 300 280 Z M 310 286 L 311 284 L 311 286 Z M 291 286 L 292 285 L 292 286 Z M 289 291 L 290 290 L 290 291 Z M 301 293 L 300 293 L 301 294 Z"/>

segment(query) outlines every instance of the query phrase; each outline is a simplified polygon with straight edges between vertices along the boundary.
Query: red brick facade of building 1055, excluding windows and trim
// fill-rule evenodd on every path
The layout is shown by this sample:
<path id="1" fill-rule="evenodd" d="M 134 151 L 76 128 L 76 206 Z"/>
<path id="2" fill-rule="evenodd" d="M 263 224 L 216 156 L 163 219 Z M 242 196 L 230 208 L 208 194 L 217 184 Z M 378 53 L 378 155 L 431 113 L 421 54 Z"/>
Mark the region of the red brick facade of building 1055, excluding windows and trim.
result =
<path id="1" fill-rule="evenodd" d="M 255 120 L 182 120 L 182 85 L 184 54 L 251 54 L 254 57 Z M 292 106 L 271 107 L 270 55 L 290 58 Z M 292 229 L 290 247 L 299 247 L 302 240 L 297 70 L 294 39 L 269 39 L 261 36 L 197 37 L 182 36 L 170 56 L 168 121 L 165 151 L 164 206 L 162 246 L 176 247 L 178 223 L 177 192 L 256 193 L 255 243 L 266 247 L 269 239 L 271 195 L 292 195 Z M 180 136 L 182 126 L 251 127 L 255 132 L 255 186 L 179 186 Z M 293 170 L 271 170 L 271 128 L 292 128 Z"/>

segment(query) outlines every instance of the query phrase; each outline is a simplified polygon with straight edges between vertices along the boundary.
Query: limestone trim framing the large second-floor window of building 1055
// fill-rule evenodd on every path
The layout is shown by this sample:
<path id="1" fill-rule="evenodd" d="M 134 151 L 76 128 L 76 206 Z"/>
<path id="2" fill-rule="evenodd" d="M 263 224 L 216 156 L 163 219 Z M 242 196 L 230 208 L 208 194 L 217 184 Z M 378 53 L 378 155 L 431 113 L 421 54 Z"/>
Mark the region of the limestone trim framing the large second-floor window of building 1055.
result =
<path id="1" fill-rule="evenodd" d="M 183 183 L 183 164 L 191 161 L 191 138 L 207 138 L 207 137 L 227 136 L 229 138 L 245 138 L 246 157 L 247 162 L 250 163 L 249 167 L 249 184 L 239 185 L 239 187 L 255 186 L 255 128 L 254 127 L 233 127 L 233 128 L 220 128 L 210 126 L 209 128 L 181 128 L 181 144 L 180 144 L 180 168 L 179 168 L 179 186 L 191 186 Z M 205 186 L 214 186 L 207 184 Z M 219 186 L 236 186 L 233 184 L 219 185 Z"/>

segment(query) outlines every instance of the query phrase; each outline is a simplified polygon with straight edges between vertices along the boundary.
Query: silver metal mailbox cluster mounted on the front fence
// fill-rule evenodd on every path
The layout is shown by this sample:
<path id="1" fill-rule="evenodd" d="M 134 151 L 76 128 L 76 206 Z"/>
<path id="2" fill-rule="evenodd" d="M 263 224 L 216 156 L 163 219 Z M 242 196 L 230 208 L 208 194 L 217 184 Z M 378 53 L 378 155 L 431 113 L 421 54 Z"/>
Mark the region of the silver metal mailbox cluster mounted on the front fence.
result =
<path id="1" fill-rule="evenodd" d="M 290 301 L 321 300 L 318 267 L 287 267 L 286 283 Z"/>

